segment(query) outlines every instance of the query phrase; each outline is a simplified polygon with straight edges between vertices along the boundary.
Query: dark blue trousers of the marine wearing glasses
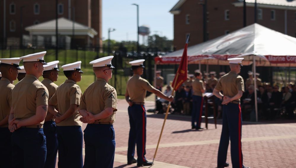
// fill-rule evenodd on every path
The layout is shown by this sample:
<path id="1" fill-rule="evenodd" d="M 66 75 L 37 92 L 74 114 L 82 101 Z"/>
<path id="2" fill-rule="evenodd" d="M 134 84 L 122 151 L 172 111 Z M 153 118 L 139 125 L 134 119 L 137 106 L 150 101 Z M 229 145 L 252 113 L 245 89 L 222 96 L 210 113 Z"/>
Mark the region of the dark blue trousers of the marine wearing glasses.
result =
<path id="1" fill-rule="evenodd" d="M 113 168 L 115 132 L 112 124 L 87 124 L 83 168 Z"/>

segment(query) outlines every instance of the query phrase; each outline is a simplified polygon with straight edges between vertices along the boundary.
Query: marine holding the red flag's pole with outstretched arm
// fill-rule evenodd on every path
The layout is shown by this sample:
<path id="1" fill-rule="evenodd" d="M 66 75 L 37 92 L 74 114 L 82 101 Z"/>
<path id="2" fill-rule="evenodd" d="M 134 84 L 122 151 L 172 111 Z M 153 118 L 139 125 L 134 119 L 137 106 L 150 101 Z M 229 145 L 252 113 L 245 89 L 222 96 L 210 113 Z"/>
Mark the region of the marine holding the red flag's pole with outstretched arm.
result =
<path id="1" fill-rule="evenodd" d="M 125 99 L 129 103 L 129 143 L 127 151 L 127 164 L 137 163 L 137 166 L 151 166 L 152 162 L 145 159 L 145 143 L 146 143 L 146 110 L 145 97 L 146 90 L 156 94 L 157 96 L 172 102 L 174 97 L 166 96 L 158 89 L 152 87 L 149 82 L 140 77 L 143 74 L 144 59 L 129 62 L 132 65 L 134 75 L 127 82 L 127 90 Z M 137 144 L 137 156 L 134 158 L 135 145 Z"/>

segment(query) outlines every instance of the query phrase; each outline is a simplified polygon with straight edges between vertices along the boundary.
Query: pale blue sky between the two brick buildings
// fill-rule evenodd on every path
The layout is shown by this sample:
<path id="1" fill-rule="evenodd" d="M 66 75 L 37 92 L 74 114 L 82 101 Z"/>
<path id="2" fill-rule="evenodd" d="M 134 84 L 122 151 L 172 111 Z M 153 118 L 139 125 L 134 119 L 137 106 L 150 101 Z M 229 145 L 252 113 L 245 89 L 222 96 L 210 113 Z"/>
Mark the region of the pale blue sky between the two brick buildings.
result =
<path id="1" fill-rule="evenodd" d="M 137 6 L 139 5 L 139 26 L 150 27 L 150 35 L 174 38 L 174 15 L 169 11 L 179 0 L 102 0 L 102 36 L 116 41 L 137 41 Z M 139 43 L 143 38 L 139 36 Z"/>

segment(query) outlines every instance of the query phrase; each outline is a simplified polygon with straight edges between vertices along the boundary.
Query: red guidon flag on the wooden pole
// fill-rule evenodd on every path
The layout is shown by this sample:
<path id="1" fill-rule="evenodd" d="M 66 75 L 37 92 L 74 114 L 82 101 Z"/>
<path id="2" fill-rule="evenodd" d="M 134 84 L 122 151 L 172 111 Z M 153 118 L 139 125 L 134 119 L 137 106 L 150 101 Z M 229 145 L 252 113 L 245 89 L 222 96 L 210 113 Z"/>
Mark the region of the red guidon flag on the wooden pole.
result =
<path id="1" fill-rule="evenodd" d="M 188 45 L 189 35 L 185 44 L 185 48 L 183 51 L 182 59 L 180 62 L 180 66 L 172 83 L 172 86 L 175 88 L 175 91 L 187 80 L 187 69 L 188 69 L 188 60 L 187 60 L 187 45 Z M 178 75 L 179 74 L 179 75 Z M 175 85 L 176 82 L 176 85 Z"/>

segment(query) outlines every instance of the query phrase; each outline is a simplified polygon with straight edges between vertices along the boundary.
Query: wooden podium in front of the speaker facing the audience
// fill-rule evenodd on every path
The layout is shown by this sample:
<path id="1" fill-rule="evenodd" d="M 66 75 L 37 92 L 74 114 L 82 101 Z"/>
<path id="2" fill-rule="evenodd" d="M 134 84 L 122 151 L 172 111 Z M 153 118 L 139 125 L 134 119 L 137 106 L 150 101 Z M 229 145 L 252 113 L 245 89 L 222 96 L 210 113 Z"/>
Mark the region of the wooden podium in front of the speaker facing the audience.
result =
<path id="1" fill-rule="evenodd" d="M 209 100 L 212 100 L 209 102 Z M 216 121 L 216 104 L 215 104 L 215 96 L 213 93 L 204 93 L 204 118 L 205 118 L 205 124 L 206 128 L 208 129 L 208 119 L 214 118 L 215 122 L 215 129 L 217 129 L 217 121 Z M 209 111 L 209 105 L 213 106 L 213 117 L 208 116 L 208 111 Z"/>

